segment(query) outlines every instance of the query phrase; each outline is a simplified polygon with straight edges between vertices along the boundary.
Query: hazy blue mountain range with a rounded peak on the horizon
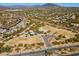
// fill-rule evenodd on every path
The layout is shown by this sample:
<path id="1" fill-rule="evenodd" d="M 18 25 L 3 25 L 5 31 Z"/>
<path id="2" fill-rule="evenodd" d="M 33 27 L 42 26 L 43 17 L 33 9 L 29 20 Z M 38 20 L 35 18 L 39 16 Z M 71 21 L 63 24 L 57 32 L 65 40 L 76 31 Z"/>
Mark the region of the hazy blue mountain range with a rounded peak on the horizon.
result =
<path id="1" fill-rule="evenodd" d="M 37 8 L 37 7 L 59 7 L 59 5 L 57 4 L 53 4 L 53 3 L 46 3 L 46 4 L 42 4 L 42 5 L 11 5 L 11 6 L 0 6 L 0 9 L 8 9 L 8 8 Z"/>

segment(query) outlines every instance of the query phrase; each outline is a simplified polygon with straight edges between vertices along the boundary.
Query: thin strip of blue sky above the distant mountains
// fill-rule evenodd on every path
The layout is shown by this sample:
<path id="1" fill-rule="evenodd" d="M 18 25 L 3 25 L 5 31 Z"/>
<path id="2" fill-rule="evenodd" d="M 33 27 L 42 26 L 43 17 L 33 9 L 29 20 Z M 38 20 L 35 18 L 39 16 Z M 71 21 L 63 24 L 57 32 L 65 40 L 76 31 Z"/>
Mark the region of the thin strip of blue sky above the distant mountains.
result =
<path id="1" fill-rule="evenodd" d="M 3 6 L 12 6 L 12 5 L 30 5 L 31 6 L 31 5 L 39 5 L 39 4 L 43 4 L 43 3 L 0 3 L 0 5 L 3 5 Z M 56 4 L 65 6 L 65 7 L 79 7 L 79 3 L 56 3 Z"/>

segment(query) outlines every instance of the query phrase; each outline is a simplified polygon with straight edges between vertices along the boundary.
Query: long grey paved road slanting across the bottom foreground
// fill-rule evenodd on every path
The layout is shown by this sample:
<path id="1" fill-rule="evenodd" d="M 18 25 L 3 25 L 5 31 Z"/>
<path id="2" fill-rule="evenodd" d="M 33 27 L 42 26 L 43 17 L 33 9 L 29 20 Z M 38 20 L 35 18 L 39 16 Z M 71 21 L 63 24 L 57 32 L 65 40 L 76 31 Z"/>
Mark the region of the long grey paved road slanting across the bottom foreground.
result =
<path id="1" fill-rule="evenodd" d="M 64 46 L 64 47 L 58 47 L 58 48 L 53 48 L 53 47 L 48 47 L 48 48 L 44 48 L 44 49 L 41 49 L 41 50 L 38 50 L 38 51 L 33 51 L 33 52 L 25 52 L 25 53 L 20 53 L 20 54 L 14 54 L 14 55 L 11 55 L 11 56 L 25 56 L 25 55 L 35 55 L 35 56 L 40 56 L 41 55 L 45 55 L 44 53 L 41 53 L 41 52 L 44 52 L 44 51 L 47 51 L 47 50 L 58 50 L 58 49 L 62 49 L 62 48 L 70 48 L 70 47 L 79 47 L 78 45 L 73 45 L 73 46 Z"/>

